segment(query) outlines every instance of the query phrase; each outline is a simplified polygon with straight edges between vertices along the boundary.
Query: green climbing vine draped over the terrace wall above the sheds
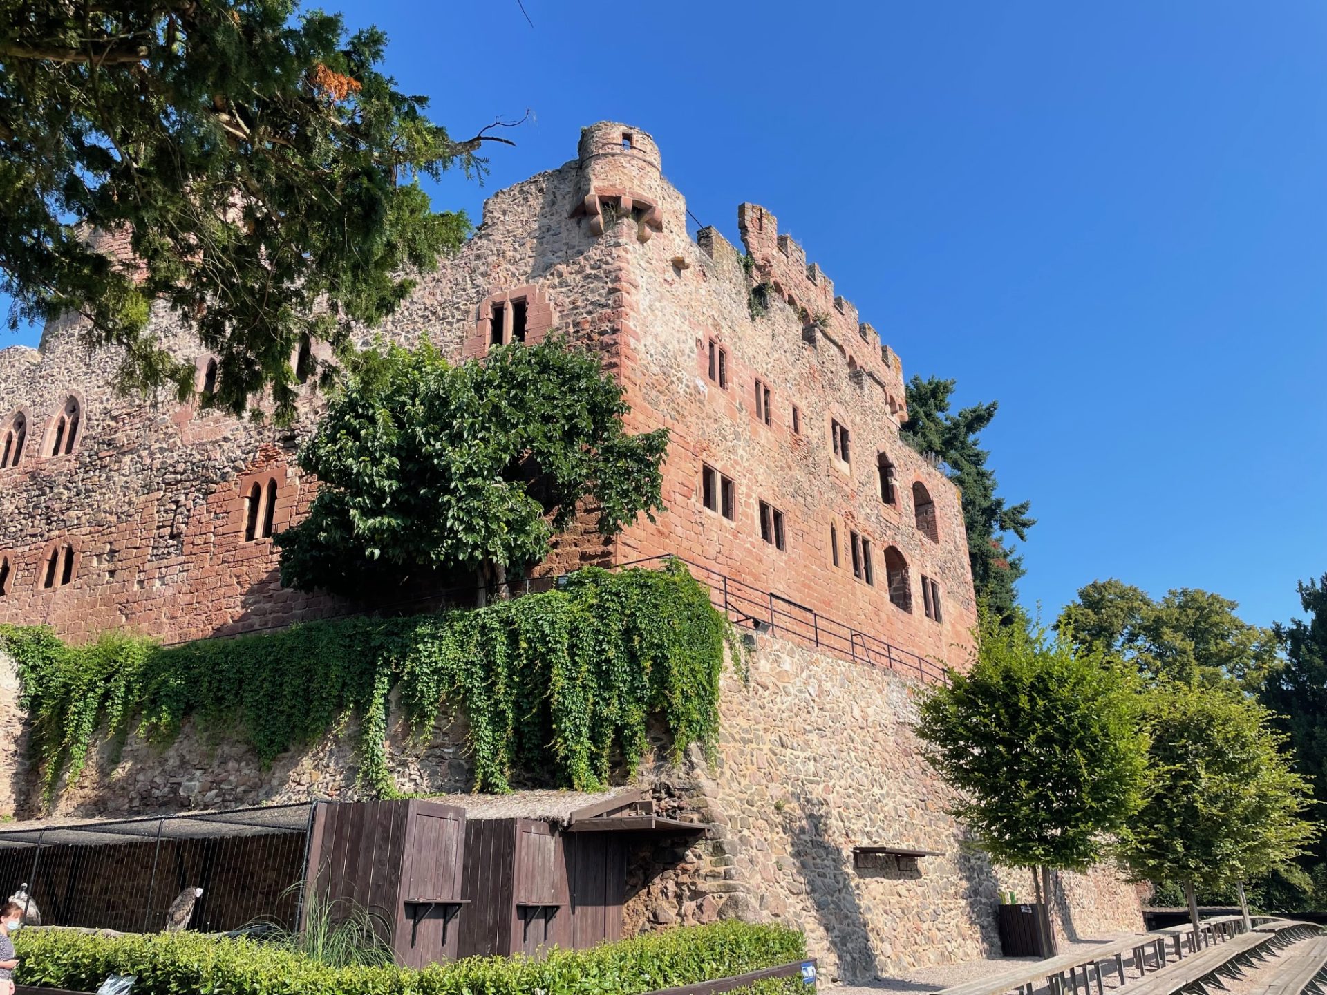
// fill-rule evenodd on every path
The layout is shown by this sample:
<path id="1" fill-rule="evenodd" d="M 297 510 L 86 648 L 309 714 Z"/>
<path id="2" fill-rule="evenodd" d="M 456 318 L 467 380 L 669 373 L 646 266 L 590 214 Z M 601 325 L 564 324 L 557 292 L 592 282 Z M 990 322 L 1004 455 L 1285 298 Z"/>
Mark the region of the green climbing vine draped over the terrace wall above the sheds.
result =
<path id="1" fill-rule="evenodd" d="M 361 719 L 360 779 L 391 796 L 385 739 L 397 689 L 418 738 L 445 703 L 464 711 L 479 789 L 506 791 L 523 769 L 589 791 L 614 763 L 636 767 L 652 715 L 674 756 L 693 743 L 710 748 L 725 647 L 742 658 L 706 588 L 675 561 L 588 568 L 551 592 L 480 609 L 316 621 L 173 647 L 119 633 L 74 647 L 49 629 L 8 625 L 0 643 L 17 661 L 48 796 L 61 776 L 78 776 L 101 728 L 118 742 L 137 728 L 169 743 L 192 719 L 239 734 L 269 764 L 352 712 Z"/>

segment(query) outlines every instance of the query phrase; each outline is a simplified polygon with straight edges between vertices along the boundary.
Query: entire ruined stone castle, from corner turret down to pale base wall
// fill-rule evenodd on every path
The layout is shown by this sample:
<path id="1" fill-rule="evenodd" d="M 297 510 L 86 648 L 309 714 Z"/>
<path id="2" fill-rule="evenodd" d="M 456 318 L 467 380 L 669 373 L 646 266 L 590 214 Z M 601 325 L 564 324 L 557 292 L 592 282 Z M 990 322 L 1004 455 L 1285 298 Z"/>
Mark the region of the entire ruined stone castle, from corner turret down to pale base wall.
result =
<path id="1" fill-rule="evenodd" d="M 637 897 L 640 927 L 725 906 L 790 921 L 845 978 L 971 957 L 995 945 L 997 892 L 1020 878 L 959 848 L 910 731 L 917 689 L 971 649 L 959 492 L 900 438 L 898 356 L 772 214 L 746 203 L 738 224 L 744 253 L 713 228 L 690 237 L 650 135 L 597 123 L 576 159 L 490 198 L 474 237 L 362 345 L 427 336 L 462 360 L 560 333 L 620 379 L 629 431 L 671 432 L 657 521 L 613 539 L 577 529 L 541 566 L 675 555 L 756 633 L 750 685 L 726 693 L 721 762 L 674 779 L 718 830 Z M 206 390 L 210 357 L 159 325 Z M 0 621 L 176 642 L 368 605 L 279 584 L 271 536 L 314 487 L 295 463 L 324 405 L 313 382 L 285 430 L 150 406 L 118 397 L 115 357 L 88 353 L 76 332 L 52 322 L 40 350 L 0 352 Z M 0 711 L 21 724 L 12 685 L 0 675 Z M 466 789 L 449 743 L 439 730 L 430 751 L 402 754 L 402 787 Z M 61 804 L 336 795 L 353 781 L 338 751 L 263 771 L 243 748 L 196 738 L 165 755 L 130 743 L 113 769 L 89 764 Z M 11 808 L 21 767 L 4 744 Z M 863 858 L 909 848 L 933 856 Z M 1139 925 L 1113 874 L 1070 877 L 1062 929 Z"/>

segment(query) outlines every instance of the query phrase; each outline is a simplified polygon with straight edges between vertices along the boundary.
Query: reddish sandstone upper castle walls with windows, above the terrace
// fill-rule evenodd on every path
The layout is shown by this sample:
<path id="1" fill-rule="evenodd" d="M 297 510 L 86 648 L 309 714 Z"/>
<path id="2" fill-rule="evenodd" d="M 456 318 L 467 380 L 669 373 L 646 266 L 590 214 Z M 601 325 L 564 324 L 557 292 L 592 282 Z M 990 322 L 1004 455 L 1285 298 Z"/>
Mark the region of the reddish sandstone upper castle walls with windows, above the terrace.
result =
<path id="1" fill-rule="evenodd" d="M 559 539 L 545 570 L 674 552 L 910 651 L 958 662 L 954 646 L 967 645 L 973 621 L 958 495 L 898 439 L 897 357 L 859 325 L 852 305 L 762 208 L 743 206 L 739 215 L 756 264 L 751 280 L 721 236 L 702 233 L 703 248 L 687 237 L 685 219 L 685 202 L 662 179 L 649 135 L 621 125 L 587 129 L 577 161 L 495 194 L 456 259 L 423 277 L 361 344 L 429 336 L 453 358 L 478 356 L 492 304 L 528 297 L 528 341 L 565 333 L 593 345 L 626 386 L 634 409 L 629 427 L 665 425 L 673 432 L 669 511 L 658 523 L 642 519 L 608 543 L 587 521 Z M 747 312 L 752 280 L 776 291 L 756 320 Z M 824 316 L 824 328 L 804 334 L 804 316 Z M 167 317 L 158 325 L 202 369 L 198 346 Z M 710 337 L 727 349 L 726 391 L 705 375 Z M 252 480 L 277 479 L 277 528 L 308 508 L 314 484 L 301 479 L 295 452 L 322 406 L 312 385 L 299 423 L 279 431 L 119 398 L 107 386 L 114 364 L 109 353 L 89 356 L 66 325 L 48 329 L 40 353 L 0 352 L 0 415 L 8 413 L 0 434 L 13 413 L 29 419 L 23 462 L 0 468 L 0 556 L 11 564 L 0 618 L 49 622 L 76 637 L 130 626 L 174 641 L 362 608 L 283 590 L 271 540 L 244 541 L 243 499 Z M 754 417 L 755 377 L 771 389 L 770 426 Z M 82 405 L 78 444 L 69 455 L 46 456 L 48 426 L 70 395 Z M 800 435 L 788 425 L 792 405 L 802 413 Z M 852 431 L 851 467 L 831 458 L 831 418 Z M 878 500 L 880 450 L 897 466 L 893 508 Z M 702 460 L 736 482 L 735 523 L 701 507 Z M 913 480 L 936 501 L 938 543 L 913 524 Z M 786 515 L 786 551 L 760 540 L 758 500 Z M 831 521 L 841 545 L 837 569 L 828 551 Z M 852 529 L 872 541 L 874 586 L 852 577 Z M 66 543 L 73 580 L 44 589 L 44 557 Z M 889 602 L 881 559 L 888 545 L 908 560 L 910 613 Z M 922 612 L 924 573 L 941 586 L 943 624 Z"/>

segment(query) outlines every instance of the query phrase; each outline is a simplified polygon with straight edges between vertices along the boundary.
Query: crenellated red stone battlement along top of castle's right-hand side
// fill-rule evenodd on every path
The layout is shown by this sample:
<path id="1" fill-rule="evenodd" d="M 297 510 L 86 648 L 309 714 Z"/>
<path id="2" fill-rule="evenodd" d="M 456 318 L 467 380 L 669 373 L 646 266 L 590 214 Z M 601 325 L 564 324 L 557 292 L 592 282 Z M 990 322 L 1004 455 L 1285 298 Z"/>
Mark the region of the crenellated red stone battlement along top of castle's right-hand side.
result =
<path id="1" fill-rule="evenodd" d="M 764 284 L 770 296 L 792 308 L 803 321 L 803 340 L 816 345 L 824 338 L 843 353 L 848 375 L 865 387 L 881 391 L 900 422 L 908 419 L 902 364 L 880 341 L 876 329 L 861 321 L 857 308 L 833 291 L 833 281 L 816 263 L 807 263 L 805 249 L 791 235 L 779 233 L 779 222 L 760 204 L 738 206 L 738 230 L 752 261 L 751 280 Z"/>

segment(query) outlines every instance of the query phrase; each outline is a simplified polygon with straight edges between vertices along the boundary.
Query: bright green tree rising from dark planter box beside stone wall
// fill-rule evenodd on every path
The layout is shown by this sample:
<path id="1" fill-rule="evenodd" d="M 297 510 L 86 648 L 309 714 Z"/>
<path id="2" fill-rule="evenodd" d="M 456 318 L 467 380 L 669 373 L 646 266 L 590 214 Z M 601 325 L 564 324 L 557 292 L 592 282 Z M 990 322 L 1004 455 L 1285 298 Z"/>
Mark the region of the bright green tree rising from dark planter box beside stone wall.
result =
<path id="1" fill-rule="evenodd" d="M 917 732 L 959 800 L 954 815 L 998 864 L 1050 870 L 1101 858 L 1140 803 L 1147 742 L 1135 679 L 1014 613 L 983 612 L 973 667 L 921 704 Z"/>

